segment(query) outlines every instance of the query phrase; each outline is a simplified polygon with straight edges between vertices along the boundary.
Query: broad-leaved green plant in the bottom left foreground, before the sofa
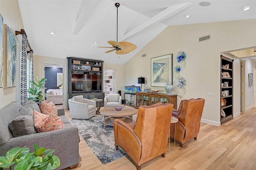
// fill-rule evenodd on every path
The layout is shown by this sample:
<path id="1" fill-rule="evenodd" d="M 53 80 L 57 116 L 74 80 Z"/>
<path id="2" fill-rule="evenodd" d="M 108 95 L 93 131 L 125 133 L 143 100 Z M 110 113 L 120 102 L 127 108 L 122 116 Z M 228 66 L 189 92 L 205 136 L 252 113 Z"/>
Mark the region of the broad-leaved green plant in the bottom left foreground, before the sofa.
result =
<path id="1" fill-rule="evenodd" d="M 60 159 L 56 155 L 52 155 L 54 149 L 40 148 L 38 144 L 34 144 L 34 152 L 30 152 L 29 148 L 15 147 L 6 153 L 6 156 L 0 156 L 0 169 L 15 170 L 53 170 L 60 166 Z"/>

